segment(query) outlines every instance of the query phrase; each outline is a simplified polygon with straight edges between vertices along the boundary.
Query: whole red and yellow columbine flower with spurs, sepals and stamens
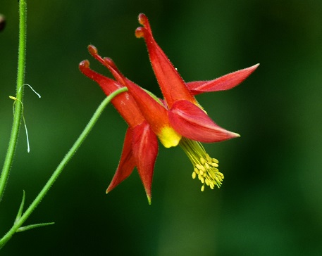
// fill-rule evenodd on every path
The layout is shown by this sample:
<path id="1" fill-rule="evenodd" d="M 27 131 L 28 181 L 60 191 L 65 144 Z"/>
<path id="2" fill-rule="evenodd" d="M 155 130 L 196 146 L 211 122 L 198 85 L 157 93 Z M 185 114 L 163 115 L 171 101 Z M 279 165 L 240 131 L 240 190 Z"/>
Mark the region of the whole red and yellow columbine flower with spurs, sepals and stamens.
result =
<path id="1" fill-rule="evenodd" d="M 164 101 L 124 77 L 111 59 L 98 56 L 94 46 L 89 46 L 89 52 L 109 68 L 116 81 L 90 70 L 87 60 L 80 63 L 80 70 L 87 77 L 98 82 L 106 95 L 123 86 L 128 87 L 130 92 L 130 94 L 119 94 L 112 101 L 128 123 L 129 129 L 125 135 L 118 169 L 106 192 L 120 184 L 137 166 L 151 203 L 152 174 L 158 152 L 156 135 L 166 148 L 178 145 L 183 148 L 194 165 L 192 178 L 198 176 L 202 181 L 202 191 L 205 184 L 211 188 L 219 187 L 223 181 L 223 174 L 217 169 L 218 160 L 210 158 L 199 141 L 224 141 L 239 135 L 218 127 L 206 115 L 194 95 L 233 88 L 246 79 L 258 65 L 212 81 L 185 83 L 154 41 L 147 17 L 141 14 L 139 21 L 144 27 L 139 27 L 135 34 L 137 37 L 144 37 L 147 42 L 152 68 L 160 84 Z"/>

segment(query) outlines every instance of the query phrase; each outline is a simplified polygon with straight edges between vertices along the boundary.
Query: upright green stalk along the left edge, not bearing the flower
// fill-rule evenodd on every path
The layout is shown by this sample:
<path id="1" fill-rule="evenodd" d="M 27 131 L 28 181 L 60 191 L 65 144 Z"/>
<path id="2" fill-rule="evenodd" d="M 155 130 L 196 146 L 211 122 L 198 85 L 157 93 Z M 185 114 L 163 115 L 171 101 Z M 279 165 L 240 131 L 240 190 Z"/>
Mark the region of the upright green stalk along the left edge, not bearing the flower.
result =
<path id="1" fill-rule="evenodd" d="M 8 145 L 8 151 L 4 160 L 4 167 L 0 177 L 0 201 L 4 194 L 6 187 L 6 181 L 13 162 L 13 155 L 16 151 L 19 127 L 21 121 L 22 102 L 23 102 L 23 84 L 25 79 L 25 49 L 27 39 L 27 3 L 26 0 L 20 0 L 19 2 L 19 46 L 18 46 L 18 76 L 16 87 L 16 108 L 13 115 L 13 126 L 11 129 L 11 136 Z"/>

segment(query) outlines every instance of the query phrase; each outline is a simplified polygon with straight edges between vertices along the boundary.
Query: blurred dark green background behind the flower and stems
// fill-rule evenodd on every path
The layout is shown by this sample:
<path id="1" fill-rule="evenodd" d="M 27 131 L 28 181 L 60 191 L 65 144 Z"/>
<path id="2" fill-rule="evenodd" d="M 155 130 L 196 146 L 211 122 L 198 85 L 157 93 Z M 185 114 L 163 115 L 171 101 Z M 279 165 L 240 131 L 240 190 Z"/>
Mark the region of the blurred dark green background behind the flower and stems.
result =
<path id="1" fill-rule="evenodd" d="M 0 156 L 11 130 L 18 49 L 18 3 L 1 0 Z M 225 174 L 200 192 L 180 148 L 160 146 L 148 205 L 137 172 L 109 195 L 126 124 L 110 105 L 26 224 L 1 255 L 321 255 L 322 2 L 85 0 L 28 1 L 25 132 L 0 205 L 0 235 L 22 198 L 35 198 L 104 94 L 78 70 L 81 60 L 109 75 L 102 56 L 161 96 L 143 39 L 154 37 L 185 81 L 213 79 L 261 63 L 242 85 L 197 99 L 240 139 L 207 144 Z M 2 165 L 2 164 L 1 164 Z"/>

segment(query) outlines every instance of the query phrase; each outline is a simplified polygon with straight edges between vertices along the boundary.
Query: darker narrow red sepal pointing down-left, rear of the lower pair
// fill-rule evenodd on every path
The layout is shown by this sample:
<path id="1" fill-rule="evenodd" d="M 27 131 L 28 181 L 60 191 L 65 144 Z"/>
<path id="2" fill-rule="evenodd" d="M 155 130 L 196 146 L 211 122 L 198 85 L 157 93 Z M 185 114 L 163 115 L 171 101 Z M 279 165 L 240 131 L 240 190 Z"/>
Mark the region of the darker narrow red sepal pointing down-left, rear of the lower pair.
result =
<path id="1" fill-rule="evenodd" d="M 109 193 L 113 188 L 118 186 L 123 180 L 128 178 L 132 173 L 135 167 L 135 159 L 132 154 L 132 130 L 128 129 L 125 134 L 123 151 L 120 156 L 120 163 L 118 164 L 118 169 L 111 181 L 111 184 L 106 190 L 106 193 Z"/>

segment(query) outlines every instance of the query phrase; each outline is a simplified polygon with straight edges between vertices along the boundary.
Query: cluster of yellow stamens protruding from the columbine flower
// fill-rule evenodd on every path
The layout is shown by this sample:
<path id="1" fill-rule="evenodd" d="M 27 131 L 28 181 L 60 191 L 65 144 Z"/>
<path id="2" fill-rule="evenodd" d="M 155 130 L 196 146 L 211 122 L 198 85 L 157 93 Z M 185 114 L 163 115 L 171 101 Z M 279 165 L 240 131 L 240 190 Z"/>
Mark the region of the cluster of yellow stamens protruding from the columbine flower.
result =
<path id="1" fill-rule="evenodd" d="M 202 181 L 202 191 L 204 191 L 205 184 L 206 186 L 210 186 L 211 189 L 215 186 L 219 188 L 223 181 L 223 174 L 217 169 L 218 160 L 211 158 L 199 141 L 182 137 L 179 145 L 194 166 L 192 179 L 198 177 L 199 181 Z"/>

